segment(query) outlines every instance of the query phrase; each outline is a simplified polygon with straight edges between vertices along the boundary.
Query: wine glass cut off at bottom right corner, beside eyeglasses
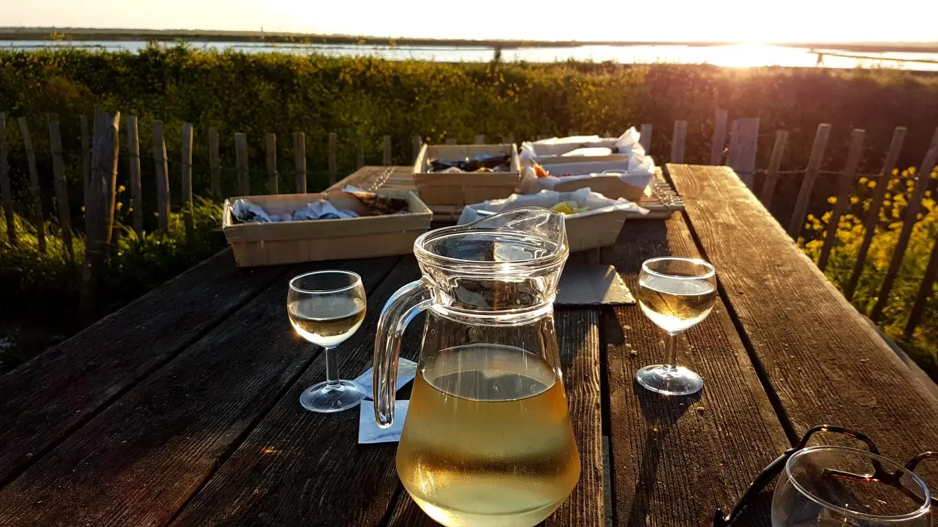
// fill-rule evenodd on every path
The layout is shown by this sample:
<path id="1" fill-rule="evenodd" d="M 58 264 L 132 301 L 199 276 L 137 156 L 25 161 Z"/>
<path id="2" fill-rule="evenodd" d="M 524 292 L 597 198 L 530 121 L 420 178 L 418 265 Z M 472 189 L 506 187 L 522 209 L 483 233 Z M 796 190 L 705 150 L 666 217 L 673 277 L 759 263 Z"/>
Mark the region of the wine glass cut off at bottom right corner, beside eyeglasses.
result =
<path id="1" fill-rule="evenodd" d="M 785 463 L 772 527 L 929 527 L 929 509 L 925 483 L 899 463 L 855 448 L 812 446 Z"/>

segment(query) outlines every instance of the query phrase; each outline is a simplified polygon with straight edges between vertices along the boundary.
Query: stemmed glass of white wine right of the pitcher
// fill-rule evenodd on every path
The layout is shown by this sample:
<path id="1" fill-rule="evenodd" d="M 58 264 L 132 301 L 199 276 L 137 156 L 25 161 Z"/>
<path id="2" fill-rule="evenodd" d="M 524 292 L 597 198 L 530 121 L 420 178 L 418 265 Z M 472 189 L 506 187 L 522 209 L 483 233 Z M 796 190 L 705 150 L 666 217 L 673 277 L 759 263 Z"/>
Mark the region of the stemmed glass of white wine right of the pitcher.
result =
<path id="1" fill-rule="evenodd" d="M 717 271 L 697 258 L 662 256 L 645 260 L 639 274 L 639 305 L 658 328 L 667 331 L 664 364 L 635 373 L 644 388 L 664 395 L 689 395 L 703 388 L 703 379 L 677 366 L 677 335 L 703 321 L 717 297 Z"/>

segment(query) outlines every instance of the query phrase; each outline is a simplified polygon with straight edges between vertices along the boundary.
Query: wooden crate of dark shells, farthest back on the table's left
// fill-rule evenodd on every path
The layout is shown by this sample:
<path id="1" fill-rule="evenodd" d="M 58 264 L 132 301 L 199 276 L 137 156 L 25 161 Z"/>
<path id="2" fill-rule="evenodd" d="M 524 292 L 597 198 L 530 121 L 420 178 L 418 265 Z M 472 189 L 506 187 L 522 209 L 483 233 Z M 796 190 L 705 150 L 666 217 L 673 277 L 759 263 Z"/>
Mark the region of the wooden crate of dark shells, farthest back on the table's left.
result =
<path id="1" fill-rule="evenodd" d="M 472 158 L 477 154 L 511 154 L 508 172 L 429 172 L 431 159 Z M 414 163 L 414 185 L 431 209 L 461 209 L 467 203 L 507 198 L 521 181 L 521 163 L 514 144 L 423 145 Z"/>

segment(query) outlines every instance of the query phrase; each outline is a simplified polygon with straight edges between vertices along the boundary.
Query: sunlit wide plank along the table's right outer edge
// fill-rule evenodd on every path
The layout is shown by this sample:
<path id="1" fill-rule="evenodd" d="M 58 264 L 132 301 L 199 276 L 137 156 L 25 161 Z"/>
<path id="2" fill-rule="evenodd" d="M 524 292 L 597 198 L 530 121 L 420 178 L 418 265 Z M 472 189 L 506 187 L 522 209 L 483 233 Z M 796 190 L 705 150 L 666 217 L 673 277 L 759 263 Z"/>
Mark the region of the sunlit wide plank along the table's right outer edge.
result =
<path id="1" fill-rule="evenodd" d="M 667 168 L 794 432 L 820 423 L 855 428 L 899 460 L 933 445 L 938 399 L 733 171 Z M 793 301 L 793 291 L 804 301 Z"/>

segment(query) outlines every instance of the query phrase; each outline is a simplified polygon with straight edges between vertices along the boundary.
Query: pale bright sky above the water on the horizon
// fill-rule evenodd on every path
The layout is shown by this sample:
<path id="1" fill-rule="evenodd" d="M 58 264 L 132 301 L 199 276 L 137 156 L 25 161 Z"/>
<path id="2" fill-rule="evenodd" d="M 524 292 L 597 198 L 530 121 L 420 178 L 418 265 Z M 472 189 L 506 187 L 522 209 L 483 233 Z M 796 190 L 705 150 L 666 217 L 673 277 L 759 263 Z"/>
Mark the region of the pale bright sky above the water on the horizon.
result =
<path id="1" fill-rule="evenodd" d="M 935 0 L 2 0 L 0 26 L 379 37 L 845 42 L 938 40 Z M 634 5 L 632 5 L 634 4 Z M 915 22 L 920 21 L 920 22 Z M 922 22 L 931 21 L 931 22 Z"/>

